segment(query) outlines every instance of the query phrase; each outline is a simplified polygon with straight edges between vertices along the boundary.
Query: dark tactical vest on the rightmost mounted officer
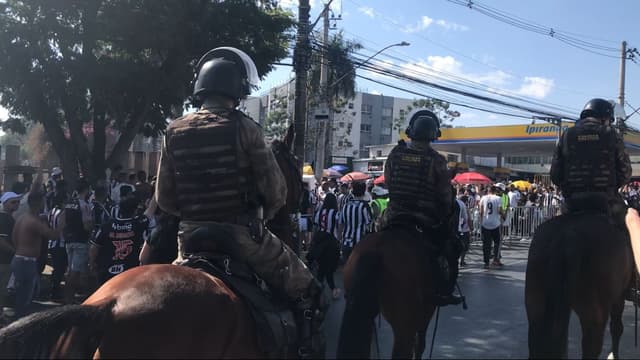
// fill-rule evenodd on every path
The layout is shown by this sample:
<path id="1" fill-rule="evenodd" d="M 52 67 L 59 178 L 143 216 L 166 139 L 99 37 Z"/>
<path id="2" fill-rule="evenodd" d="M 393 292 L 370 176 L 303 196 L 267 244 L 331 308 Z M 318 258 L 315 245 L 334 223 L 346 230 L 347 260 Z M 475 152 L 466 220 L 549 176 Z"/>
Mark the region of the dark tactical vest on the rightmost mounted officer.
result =
<path id="1" fill-rule="evenodd" d="M 567 130 L 562 149 L 565 194 L 616 191 L 616 134 L 610 127 L 576 126 Z"/>

